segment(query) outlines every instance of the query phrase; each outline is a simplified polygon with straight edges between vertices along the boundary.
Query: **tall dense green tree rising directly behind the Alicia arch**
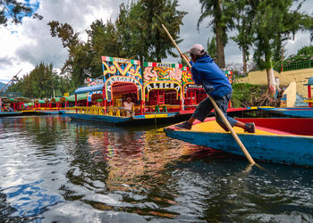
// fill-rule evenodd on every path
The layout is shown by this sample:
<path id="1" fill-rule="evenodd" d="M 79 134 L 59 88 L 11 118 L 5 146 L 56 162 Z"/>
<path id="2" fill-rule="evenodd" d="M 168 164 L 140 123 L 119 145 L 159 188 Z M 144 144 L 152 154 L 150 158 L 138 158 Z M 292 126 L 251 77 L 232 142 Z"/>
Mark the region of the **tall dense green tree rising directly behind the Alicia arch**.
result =
<path id="1" fill-rule="evenodd" d="M 131 52 L 139 55 L 141 61 L 161 62 L 167 54 L 177 57 L 162 24 L 171 32 L 176 43 L 182 42 L 178 34 L 186 12 L 178 11 L 178 5 L 178 0 L 141 0 L 131 5 Z"/>

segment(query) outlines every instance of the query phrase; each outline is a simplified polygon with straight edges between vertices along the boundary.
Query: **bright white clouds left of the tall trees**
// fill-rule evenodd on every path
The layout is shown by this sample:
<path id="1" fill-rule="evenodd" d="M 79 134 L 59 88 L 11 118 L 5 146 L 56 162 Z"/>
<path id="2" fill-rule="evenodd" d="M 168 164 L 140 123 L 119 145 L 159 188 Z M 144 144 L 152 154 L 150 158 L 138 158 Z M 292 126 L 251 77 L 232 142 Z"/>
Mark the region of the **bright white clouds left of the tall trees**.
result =
<path id="1" fill-rule="evenodd" d="M 69 23 L 80 32 L 82 40 L 87 39 L 86 29 L 92 21 L 106 21 L 116 16 L 118 5 L 124 1 L 106 0 L 32 0 L 30 4 L 39 2 L 38 13 L 44 16 L 42 21 L 24 18 L 21 25 L 9 24 L 8 28 L 0 27 L 0 78 L 11 79 L 22 69 L 22 75 L 34 69 L 39 62 L 53 63 L 55 69 L 60 68 L 67 58 L 67 50 L 63 48 L 58 37 L 51 37 L 49 21 Z"/>

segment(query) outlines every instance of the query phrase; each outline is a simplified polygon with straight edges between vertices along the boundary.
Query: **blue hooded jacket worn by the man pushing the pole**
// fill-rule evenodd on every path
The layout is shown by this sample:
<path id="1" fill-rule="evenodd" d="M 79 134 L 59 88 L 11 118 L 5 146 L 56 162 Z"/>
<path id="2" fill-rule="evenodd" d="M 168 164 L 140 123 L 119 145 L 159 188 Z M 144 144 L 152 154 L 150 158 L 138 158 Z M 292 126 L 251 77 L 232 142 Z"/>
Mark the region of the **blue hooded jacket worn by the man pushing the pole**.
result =
<path id="1" fill-rule="evenodd" d="M 208 95 L 219 98 L 232 93 L 231 83 L 211 57 L 204 55 L 190 64 L 193 81 L 202 85 Z"/>

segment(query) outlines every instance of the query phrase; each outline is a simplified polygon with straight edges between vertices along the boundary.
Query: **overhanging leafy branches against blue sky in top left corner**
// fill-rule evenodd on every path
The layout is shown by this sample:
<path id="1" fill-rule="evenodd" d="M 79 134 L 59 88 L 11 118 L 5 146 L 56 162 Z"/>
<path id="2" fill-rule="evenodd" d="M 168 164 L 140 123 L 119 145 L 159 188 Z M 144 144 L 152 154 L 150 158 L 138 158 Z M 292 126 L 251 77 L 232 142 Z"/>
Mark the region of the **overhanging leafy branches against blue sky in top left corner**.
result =
<path id="1" fill-rule="evenodd" d="M 15 24 L 21 23 L 25 16 L 34 19 L 42 20 L 42 16 L 30 8 L 30 4 L 21 3 L 16 0 L 0 0 L 0 5 L 3 5 L 3 10 L 0 11 L 0 24 L 6 26 L 9 21 Z M 10 19 L 8 19 L 10 18 Z"/>

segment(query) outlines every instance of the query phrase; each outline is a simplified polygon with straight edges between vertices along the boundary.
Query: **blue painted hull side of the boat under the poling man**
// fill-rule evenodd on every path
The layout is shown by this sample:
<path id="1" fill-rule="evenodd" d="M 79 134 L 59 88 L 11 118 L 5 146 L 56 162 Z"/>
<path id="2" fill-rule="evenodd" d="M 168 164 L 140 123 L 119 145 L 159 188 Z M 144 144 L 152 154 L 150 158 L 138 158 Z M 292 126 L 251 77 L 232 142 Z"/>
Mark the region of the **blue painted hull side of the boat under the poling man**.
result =
<path id="1" fill-rule="evenodd" d="M 230 133 L 210 133 L 165 128 L 167 136 L 227 153 L 244 155 Z M 313 136 L 259 136 L 239 134 L 253 159 L 313 167 Z"/>

